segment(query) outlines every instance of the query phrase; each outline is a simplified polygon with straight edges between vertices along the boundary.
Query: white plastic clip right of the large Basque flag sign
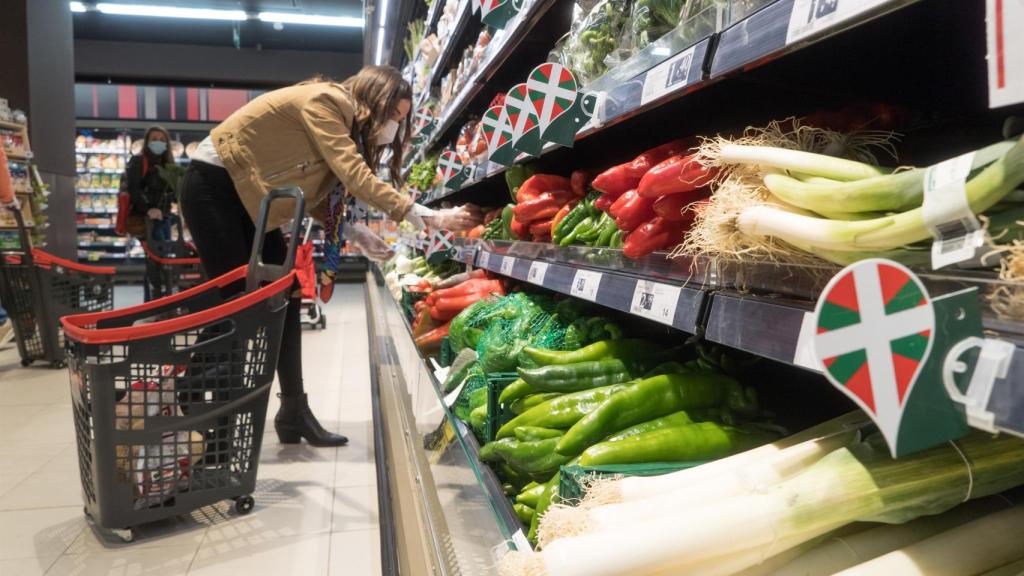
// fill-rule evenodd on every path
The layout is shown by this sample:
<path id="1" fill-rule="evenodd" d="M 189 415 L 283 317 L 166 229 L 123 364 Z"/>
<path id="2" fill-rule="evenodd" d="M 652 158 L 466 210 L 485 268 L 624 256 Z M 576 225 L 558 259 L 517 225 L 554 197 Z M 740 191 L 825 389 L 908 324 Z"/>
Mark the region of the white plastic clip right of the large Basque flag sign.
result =
<path id="1" fill-rule="evenodd" d="M 971 375 L 967 392 L 962 393 L 956 387 L 953 377 L 967 372 L 968 366 L 959 359 L 971 348 L 981 348 L 978 362 Z M 1014 344 L 993 338 L 971 336 L 956 342 L 946 355 L 942 363 L 942 383 L 949 393 L 949 398 L 964 405 L 967 413 L 967 423 L 973 427 L 990 433 L 997 433 L 995 416 L 988 411 L 988 400 L 996 380 L 1002 380 L 1010 371 L 1010 363 L 1014 356 Z"/>

